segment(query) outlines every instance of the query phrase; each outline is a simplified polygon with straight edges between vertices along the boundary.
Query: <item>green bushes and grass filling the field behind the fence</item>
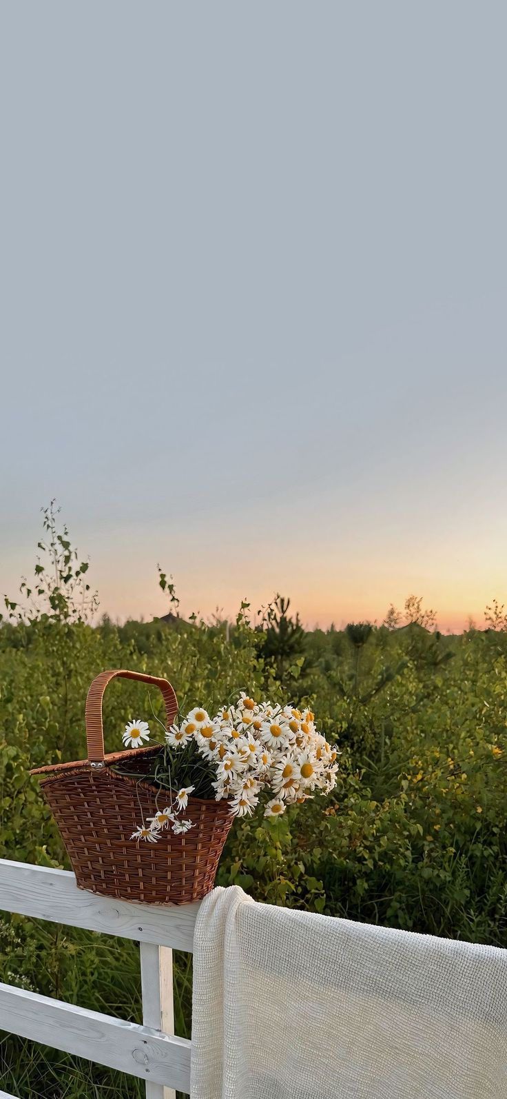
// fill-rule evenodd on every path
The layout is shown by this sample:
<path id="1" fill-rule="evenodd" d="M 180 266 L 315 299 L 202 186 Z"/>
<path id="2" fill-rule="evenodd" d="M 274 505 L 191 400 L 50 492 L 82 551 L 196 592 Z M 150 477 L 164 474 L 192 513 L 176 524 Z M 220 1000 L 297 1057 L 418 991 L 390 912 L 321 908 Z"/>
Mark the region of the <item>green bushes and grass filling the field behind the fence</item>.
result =
<path id="1" fill-rule="evenodd" d="M 334 793 L 274 822 L 237 821 L 219 884 L 271 903 L 507 946 L 504 630 L 444 637 L 416 621 L 304 633 L 281 602 L 260 630 L 246 607 L 233 628 L 176 619 L 92 629 L 60 610 L 0 629 L 1 857 L 68 866 L 29 769 L 86 756 L 88 686 L 103 668 L 128 667 L 170 679 L 183 710 L 241 689 L 309 704 L 340 743 Z M 151 706 L 160 701 L 142 685 L 111 684 L 106 746 L 117 747 L 128 718 L 149 720 Z M 189 966 L 177 956 L 182 1034 Z M 135 943 L 0 914 L 0 979 L 140 1021 Z M 29 1099 L 143 1095 L 142 1081 L 8 1035 L 0 1088 Z"/>

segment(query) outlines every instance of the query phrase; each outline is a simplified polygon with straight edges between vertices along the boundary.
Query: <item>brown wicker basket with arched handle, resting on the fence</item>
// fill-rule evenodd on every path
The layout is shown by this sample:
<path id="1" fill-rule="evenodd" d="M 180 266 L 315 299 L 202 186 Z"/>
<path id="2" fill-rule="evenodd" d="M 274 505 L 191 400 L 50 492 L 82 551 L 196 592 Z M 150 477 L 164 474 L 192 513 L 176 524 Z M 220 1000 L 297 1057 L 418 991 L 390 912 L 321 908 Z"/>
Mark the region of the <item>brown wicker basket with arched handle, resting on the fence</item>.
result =
<path id="1" fill-rule="evenodd" d="M 131 835 L 155 817 L 159 790 L 149 781 L 128 778 L 111 764 L 136 770 L 148 767 L 159 745 L 104 755 L 102 697 L 110 679 L 139 679 L 158 687 L 166 704 L 167 728 L 177 712 L 174 691 L 166 679 L 138 671 L 102 671 L 88 691 L 86 725 L 88 759 L 37 767 L 44 796 L 61 833 L 77 885 L 106 897 L 149 904 L 182 904 L 204 897 L 215 880 L 218 859 L 232 824 L 226 802 L 189 798 L 194 828 L 183 835 L 170 830 L 157 843 L 136 843 Z"/>

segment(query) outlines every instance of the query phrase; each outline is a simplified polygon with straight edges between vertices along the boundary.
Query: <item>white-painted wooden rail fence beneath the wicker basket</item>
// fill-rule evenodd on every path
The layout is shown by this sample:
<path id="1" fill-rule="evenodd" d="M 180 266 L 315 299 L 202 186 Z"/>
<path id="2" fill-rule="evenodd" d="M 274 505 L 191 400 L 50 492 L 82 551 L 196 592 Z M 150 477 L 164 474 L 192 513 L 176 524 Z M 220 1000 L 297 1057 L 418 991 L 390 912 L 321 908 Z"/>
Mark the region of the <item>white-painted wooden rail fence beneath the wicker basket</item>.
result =
<path id="1" fill-rule="evenodd" d="M 199 904 L 112 900 L 78 889 L 67 870 L 0 859 L 0 909 L 138 940 L 143 991 L 139 1025 L 0 983 L 0 1030 L 138 1076 L 146 1099 L 189 1092 L 190 1042 L 173 1033 L 172 947 L 192 951 Z"/>

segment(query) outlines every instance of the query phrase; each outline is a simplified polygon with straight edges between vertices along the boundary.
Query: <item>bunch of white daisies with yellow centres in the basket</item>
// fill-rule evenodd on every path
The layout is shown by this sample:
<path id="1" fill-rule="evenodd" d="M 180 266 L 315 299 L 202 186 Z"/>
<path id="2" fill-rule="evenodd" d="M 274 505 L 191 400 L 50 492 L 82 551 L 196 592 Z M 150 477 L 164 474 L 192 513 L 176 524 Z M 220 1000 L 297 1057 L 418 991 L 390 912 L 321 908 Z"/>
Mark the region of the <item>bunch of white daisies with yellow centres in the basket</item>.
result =
<path id="1" fill-rule="evenodd" d="M 123 743 L 140 747 L 149 737 L 147 722 L 129 722 Z M 148 773 L 137 776 L 158 787 L 159 795 L 156 814 L 142 822 L 133 840 L 156 843 L 164 829 L 177 835 L 189 831 L 192 793 L 226 799 L 234 817 L 249 817 L 267 791 L 264 817 L 280 817 L 288 806 L 329 793 L 336 784 L 339 752 L 316 729 L 312 710 L 258 703 L 244 692 L 213 718 L 195 707 L 165 730 L 165 740 L 160 752 L 150 754 Z"/>

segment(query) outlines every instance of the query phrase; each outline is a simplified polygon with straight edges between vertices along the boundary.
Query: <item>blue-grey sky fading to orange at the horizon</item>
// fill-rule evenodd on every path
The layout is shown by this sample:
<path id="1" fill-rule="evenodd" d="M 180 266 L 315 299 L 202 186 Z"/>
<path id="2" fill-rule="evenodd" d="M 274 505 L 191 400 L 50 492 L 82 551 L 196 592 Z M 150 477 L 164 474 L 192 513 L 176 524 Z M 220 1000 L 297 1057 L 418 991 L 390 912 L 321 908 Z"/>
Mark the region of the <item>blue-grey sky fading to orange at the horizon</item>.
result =
<path id="1" fill-rule="evenodd" d="M 0 3 L 0 592 L 507 601 L 505 42 L 484 0 Z"/>

